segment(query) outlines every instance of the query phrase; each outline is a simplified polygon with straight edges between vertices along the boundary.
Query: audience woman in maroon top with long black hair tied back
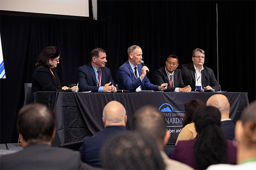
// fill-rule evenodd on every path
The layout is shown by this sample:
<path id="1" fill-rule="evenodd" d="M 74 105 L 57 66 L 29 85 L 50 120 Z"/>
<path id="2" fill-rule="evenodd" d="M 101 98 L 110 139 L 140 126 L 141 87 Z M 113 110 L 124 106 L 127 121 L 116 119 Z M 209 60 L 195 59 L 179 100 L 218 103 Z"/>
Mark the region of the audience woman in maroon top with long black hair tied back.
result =
<path id="1" fill-rule="evenodd" d="M 197 139 L 178 142 L 171 159 L 196 170 L 205 170 L 212 164 L 236 164 L 236 147 L 221 130 L 220 111 L 212 106 L 203 106 L 196 109 L 193 120 Z"/>

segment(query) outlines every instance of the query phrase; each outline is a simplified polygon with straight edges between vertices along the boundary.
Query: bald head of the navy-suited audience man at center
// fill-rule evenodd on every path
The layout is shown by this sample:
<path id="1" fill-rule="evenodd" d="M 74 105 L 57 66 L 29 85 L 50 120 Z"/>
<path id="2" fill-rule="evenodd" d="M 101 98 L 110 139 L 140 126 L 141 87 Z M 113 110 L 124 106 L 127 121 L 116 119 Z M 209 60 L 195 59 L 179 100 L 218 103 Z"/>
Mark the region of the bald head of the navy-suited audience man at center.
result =
<path id="1" fill-rule="evenodd" d="M 127 122 L 125 107 L 117 101 L 111 101 L 103 109 L 103 123 L 108 126 L 124 126 Z"/>

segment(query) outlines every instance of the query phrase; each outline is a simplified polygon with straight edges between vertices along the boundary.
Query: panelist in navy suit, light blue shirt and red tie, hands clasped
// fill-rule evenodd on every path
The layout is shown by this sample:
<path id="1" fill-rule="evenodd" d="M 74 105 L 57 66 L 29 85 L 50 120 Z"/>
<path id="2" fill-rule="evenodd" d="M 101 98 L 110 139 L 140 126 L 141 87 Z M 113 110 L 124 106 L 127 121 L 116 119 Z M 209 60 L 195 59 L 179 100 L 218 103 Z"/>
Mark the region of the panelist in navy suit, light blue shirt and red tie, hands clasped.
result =
<path id="1" fill-rule="evenodd" d="M 91 62 L 77 69 L 79 91 L 112 92 L 116 89 L 111 71 L 105 67 L 106 57 L 106 51 L 102 48 L 95 48 L 90 52 Z"/>

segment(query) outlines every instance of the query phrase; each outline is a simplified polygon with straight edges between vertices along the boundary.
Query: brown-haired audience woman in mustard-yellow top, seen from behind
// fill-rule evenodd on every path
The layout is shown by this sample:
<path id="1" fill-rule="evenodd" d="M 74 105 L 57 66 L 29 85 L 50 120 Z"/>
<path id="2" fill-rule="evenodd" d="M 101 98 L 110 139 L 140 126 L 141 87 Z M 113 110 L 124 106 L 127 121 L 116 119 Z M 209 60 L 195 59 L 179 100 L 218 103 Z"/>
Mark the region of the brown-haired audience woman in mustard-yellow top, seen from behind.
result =
<path id="1" fill-rule="evenodd" d="M 183 119 L 183 126 L 177 138 L 176 145 L 178 141 L 182 141 L 182 140 L 187 141 L 187 140 L 195 139 L 197 132 L 195 130 L 193 115 L 194 115 L 195 109 L 201 106 L 206 106 L 206 105 L 203 101 L 199 99 L 190 99 L 188 102 L 185 103 L 184 106 L 185 106 L 185 116 Z"/>

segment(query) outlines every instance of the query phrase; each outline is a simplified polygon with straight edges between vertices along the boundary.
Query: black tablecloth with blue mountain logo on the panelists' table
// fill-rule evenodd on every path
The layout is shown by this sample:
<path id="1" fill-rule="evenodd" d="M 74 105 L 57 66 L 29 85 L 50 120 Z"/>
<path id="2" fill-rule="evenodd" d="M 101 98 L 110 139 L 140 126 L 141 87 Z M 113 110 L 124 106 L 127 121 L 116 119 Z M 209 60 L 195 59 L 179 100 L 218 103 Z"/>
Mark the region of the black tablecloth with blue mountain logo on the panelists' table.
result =
<path id="1" fill-rule="evenodd" d="M 181 129 L 184 104 L 189 99 L 207 102 L 217 93 L 175 93 L 175 92 L 137 92 L 137 93 L 73 93 L 73 92 L 36 92 L 35 102 L 43 103 L 56 115 L 56 136 L 53 146 L 81 140 L 104 129 L 102 111 L 105 105 L 116 100 L 124 105 L 128 121 L 126 129 L 131 130 L 132 114 L 143 105 L 157 107 L 166 117 L 166 130 L 171 132 L 168 144 L 175 144 Z M 218 93 L 227 96 L 230 102 L 230 118 L 235 123 L 249 103 L 247 93 Z"/>

